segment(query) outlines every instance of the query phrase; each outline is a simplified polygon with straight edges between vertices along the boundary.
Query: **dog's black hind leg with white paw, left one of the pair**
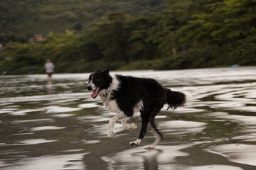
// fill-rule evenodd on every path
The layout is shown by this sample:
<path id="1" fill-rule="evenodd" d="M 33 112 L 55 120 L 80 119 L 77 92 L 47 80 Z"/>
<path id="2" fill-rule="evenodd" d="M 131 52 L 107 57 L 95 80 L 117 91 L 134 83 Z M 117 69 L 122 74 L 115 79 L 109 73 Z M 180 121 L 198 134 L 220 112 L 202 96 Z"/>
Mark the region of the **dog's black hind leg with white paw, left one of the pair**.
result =
<path id="1" fill-rule="evenodd" d="M 142 118 L 142 129 L 141 129 L 141 132 L 139 133 L 138 139 L 129 143 L 129 145 L 131 145 L 132 147 L 139 145 L 139 143 L 142 141 L 142 139 L 146 135 L 146 128 L 149 123 L 149 115 L 147 115 L 146 112 L 141 111 L 141 118 Z"/>

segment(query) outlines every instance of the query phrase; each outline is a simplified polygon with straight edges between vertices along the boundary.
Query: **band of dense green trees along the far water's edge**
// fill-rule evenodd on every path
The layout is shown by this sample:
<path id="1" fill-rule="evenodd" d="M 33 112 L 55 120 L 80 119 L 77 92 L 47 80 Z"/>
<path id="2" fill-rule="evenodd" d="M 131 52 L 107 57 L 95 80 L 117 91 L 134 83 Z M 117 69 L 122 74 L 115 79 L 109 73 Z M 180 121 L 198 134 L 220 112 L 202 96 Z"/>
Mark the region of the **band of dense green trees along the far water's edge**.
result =
<path id="1" fill-rule="evenodd" d="M 71 8 L 65 2 L 65 8 Z M 118 4 L 111 2 L 116 2 L 114 6 Z M 161 6 L 153 0 L 122 1 L 128 2 L 138 6 L 151 3 L 151 8 Z M 168 5 L 151 15 L 134 9 L 131 16 L 128 9 L 134 6 L 122 13 L 104 11 L 82 33 L 71 29 L 65 33 L 51 32 L 40 43 L 14 38 L 1 49 L 1 71 L 42 73 L 47 58 L 55 63 L 56 72 L 90 72 L 106 67 L 185 69 L 256 64 L 256 0 L 170 0 Z M 75 23 L 82 21 L 78 17 Z M 82 29 L 79 24 L 75 28 Z"/>

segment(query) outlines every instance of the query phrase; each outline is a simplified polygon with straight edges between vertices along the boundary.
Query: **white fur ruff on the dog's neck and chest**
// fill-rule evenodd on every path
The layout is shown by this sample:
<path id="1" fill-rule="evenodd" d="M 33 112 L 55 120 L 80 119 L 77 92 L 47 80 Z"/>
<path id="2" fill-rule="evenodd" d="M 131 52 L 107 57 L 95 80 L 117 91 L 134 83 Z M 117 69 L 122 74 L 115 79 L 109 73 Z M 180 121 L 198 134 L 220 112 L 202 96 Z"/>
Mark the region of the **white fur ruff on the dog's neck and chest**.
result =
<path id="1" fill-rule="evenodd" d="M 119 88 L 119 81 L 116 76 L 112 79 L 110 86 L 107 89 L 103 89 L 99 92 L 99 96 L 102 99 L 105 107 L 114 113 L 121 113 L 119 107 L 117 106 L 117 102 L 115 100 L 110 100 L 112 92 Z"/>

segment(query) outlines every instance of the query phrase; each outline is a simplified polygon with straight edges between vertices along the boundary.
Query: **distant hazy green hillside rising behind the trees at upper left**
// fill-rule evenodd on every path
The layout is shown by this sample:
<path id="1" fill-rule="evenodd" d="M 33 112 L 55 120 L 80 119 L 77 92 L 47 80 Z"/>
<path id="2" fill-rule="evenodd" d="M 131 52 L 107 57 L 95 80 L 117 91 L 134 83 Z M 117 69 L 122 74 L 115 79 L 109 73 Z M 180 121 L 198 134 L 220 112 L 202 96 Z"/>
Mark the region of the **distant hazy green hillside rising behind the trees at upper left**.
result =
<path id="1" fill-rule="evenodd" d="M 1 0 L 0 35 L 24 38 L 50 31 L 82 33 L 107 13 L 151 16 L 163 8 L 166 0 Z"/>

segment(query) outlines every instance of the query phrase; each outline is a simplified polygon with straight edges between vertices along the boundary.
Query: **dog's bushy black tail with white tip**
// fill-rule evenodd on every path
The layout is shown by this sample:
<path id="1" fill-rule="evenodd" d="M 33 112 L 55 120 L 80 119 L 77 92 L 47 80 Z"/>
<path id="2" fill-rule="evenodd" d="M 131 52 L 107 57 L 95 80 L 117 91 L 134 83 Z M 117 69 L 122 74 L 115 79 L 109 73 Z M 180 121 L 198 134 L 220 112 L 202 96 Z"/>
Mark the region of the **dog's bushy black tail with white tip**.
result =
<path id="1" fill-rule="evenodd" d="M 192 95 L 188 91 L 171 91 L 171 89 L 166 89 L 166 103 L 168 104 L 168 108 L 176 109 L 178 107 L 186 106 L 188 101 L 191 101 Z"/>

